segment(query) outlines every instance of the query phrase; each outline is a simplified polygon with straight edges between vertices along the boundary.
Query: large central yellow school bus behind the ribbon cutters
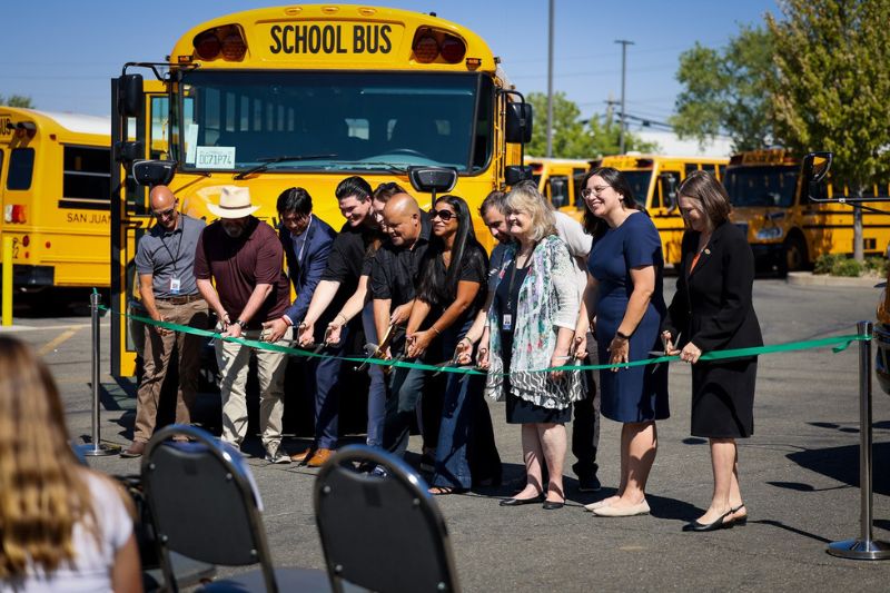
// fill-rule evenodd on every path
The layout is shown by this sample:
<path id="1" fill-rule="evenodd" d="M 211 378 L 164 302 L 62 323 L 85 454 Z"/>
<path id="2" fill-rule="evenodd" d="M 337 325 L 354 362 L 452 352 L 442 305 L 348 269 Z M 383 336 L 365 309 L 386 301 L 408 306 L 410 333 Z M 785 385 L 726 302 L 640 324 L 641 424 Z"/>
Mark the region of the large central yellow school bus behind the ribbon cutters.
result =
<path id="1" fill-rule="evenodd" d="M 142 83 L 149 71 L 160 90 Z M 280 191 L 304 187 L 315 214 L 339 228 L 334 189 L 352 175 L 373 187 L 414 186 L 424 208 L 436 189 L 475 210 L 526 174 L 531 106 L 482 38 L 433 14 L 346 4 L 249 10 L 197 24 L 168 61 L 123 72 L 111 86 L 112 136 L 135 140 L 116 154 L 112 178 L 115 307 L 131 294 L 135 240 L 150 224 L 146 187 L 130 175 L 149 147 L 169 145 L 154 155 L 168 160 L 152 164 L 151 180 L 164 181 L 167 167 L 184 209 L 208 221 L 206 206 L 225 185 L 249 187 L 257 216 L 273 224 Z M 129 375 L 118 322 L 112 373 Z"/>

